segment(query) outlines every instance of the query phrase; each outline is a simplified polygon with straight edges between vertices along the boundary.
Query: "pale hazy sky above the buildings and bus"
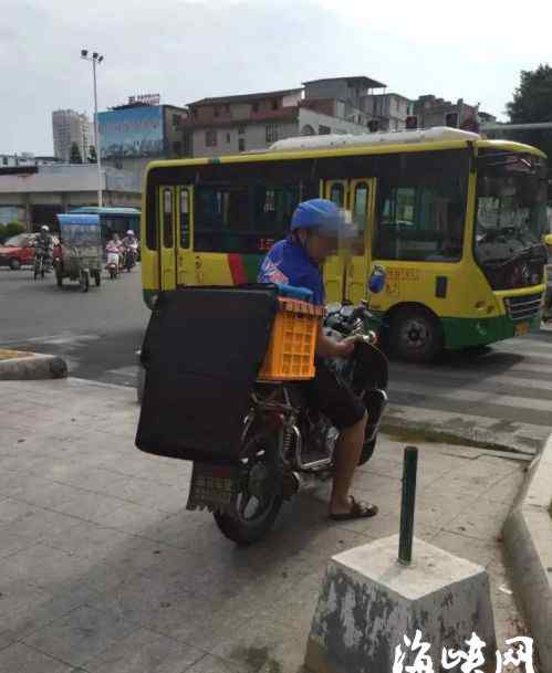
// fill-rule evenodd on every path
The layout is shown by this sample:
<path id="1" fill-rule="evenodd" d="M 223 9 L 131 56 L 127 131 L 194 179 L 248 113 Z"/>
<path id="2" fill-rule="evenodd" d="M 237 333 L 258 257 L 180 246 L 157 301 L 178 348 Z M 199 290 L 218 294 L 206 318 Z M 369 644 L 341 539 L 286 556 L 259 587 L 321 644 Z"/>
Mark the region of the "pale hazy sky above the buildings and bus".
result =
<path id="1" fill-rule="evenodd" d="M 552 62 L 549 0 L 0 0 L 0 154 L 52 154 L 52 111 L 92 113 L 81 49 L 104 55 L 100 109 L 137 93 L 184 105 L 367 75 L 504 118 L 520 71 Z"/>

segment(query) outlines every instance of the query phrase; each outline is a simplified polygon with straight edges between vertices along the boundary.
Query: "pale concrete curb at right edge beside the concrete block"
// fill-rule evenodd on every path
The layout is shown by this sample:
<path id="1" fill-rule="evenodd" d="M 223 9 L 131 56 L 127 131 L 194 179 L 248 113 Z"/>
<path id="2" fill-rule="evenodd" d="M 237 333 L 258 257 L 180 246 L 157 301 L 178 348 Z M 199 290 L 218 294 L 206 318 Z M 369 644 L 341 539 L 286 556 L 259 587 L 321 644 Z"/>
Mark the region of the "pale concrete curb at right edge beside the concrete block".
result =
<path id="1" fill-rule="evenodd" d="M 552 435 L 531 463 L 502 527 L 515 596 L 534 638 L 542 673 L 552 673 Z"/>

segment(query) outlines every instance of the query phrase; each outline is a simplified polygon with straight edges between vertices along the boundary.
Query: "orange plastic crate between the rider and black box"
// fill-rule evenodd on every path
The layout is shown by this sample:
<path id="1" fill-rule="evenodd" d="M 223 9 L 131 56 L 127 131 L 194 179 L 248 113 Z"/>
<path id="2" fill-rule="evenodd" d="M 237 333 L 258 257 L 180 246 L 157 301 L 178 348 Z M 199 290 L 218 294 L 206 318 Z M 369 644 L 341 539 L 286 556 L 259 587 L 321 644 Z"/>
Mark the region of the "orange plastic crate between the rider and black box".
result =
<path id="1" fill-rule="evenodd" d="M 269 347 L 259 379 L 301 380 L 314 377 L 316 333 L 324 313 L 322 306 L 279 297 Z"/>

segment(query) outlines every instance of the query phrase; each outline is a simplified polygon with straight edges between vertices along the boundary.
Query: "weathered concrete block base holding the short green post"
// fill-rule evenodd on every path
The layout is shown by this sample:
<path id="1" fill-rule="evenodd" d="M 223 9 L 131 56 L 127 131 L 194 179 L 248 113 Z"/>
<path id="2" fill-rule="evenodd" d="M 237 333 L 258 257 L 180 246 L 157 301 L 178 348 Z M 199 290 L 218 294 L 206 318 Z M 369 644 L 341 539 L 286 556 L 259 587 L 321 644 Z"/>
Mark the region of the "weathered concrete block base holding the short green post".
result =
<path id="1" fill-rule="evenodd" d="M 435 670 L 442 648 L 467 650 L 472 634 L 486 642 L 494 670 L 496 635 L 486 570 L 421 540 L 412 566 L 397 561 L 398 536 L 334 556 L 326 570 L 309 637 L 305 666 L 314 673 L 390 671 L 395 648 L 412 665 L 404 637 L 430 644 Z M 485 666 L 480 666 L 485 667 Z"/>

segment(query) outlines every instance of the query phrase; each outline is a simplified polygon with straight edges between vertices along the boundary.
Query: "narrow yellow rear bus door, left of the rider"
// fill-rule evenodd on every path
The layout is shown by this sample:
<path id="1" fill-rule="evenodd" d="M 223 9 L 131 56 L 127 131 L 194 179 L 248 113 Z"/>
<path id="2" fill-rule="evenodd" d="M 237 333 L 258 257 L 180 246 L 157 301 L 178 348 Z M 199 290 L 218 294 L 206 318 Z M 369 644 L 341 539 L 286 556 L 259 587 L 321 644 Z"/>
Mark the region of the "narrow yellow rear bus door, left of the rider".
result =
<path id="1" fill-rule="evenodd" d="M 191 253 L 192 187 L 159 187 L 159 288 L 194 282 Z"/>

